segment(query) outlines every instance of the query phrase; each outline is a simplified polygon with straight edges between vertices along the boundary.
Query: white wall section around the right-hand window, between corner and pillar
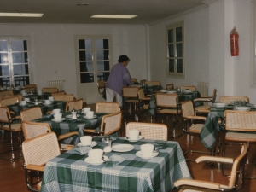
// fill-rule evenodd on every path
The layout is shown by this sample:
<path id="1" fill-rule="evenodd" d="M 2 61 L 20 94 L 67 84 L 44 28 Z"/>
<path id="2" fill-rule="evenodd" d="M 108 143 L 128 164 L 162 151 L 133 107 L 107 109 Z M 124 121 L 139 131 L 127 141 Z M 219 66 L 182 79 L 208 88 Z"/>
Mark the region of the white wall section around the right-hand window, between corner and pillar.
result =
<path id="1" fill-rule="evenodd" d="M 166 26 L 184 20 L 185 79 L 166 77 Z M 209 82 L 208 8 L 149 26 L 151 80 L 161 84 L 197 85 Z"/>

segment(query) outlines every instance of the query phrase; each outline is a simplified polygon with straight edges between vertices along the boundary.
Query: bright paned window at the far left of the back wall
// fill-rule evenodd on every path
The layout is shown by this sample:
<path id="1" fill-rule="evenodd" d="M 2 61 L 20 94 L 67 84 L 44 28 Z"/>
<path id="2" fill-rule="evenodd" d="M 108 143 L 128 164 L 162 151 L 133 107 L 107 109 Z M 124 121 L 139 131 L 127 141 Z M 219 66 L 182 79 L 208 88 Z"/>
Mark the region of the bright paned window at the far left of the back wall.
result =
<path id="1" fill-rule="evenodd" d="M 28 40 L 0 38 L 0 85 L 29 84 Z"/>

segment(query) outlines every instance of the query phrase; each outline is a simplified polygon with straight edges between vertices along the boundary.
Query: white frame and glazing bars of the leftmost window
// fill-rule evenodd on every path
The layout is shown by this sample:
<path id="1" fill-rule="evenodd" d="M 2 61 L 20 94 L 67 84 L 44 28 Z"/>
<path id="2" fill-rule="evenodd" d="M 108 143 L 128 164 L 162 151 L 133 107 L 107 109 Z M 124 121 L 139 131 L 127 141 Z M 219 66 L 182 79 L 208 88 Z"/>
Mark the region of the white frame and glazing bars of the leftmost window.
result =
<path id="1" fill-rule="evenodd" d="M 10 37 L 4 37 L 4 36 L 1 36 L 0 37 L 0 40 L 7 40 L 9 43 L 8 43 L 8 51 L 5 51 L 8 53 L 9 55 L 9 62 L 7 63 L 7 65 L 9 65 L 9 76 L 6 76 L 6 77 L 9 77 L 9 85 L 11 84 L 14 84 L 15 85 L 15 77 L 28 77 L 29 78 L 29 84 L 32 84 L 33 82 L 33 79 L 32 79 L 32 51 L 31 51 L 31 40 L 30 40 L 30 37 L 27 37 L 27 36 L 10 36 Z M 11 40 L 20 40 L 20 41 L 26 41 L 26 51 L 23 50 L 23 51 L 20 51 L 20 50 L 12 50 L 11 46 L 10 46 L 10 41 Z M 23 53 L 27 53 L 27 62 L 24 62 L 24 63 L 14 63 L 13 60 L 12 60 L 12 54 L 13 53 L 20 53 L 20 52 L 23 52 Z M 19 66 L 19 65 L 27 65 L 27 68 L 28 68 L 28 74 L 24 74 L 24 75 L 15 75 L 14 74 L 14 66 Z M 1 76 L 2 77 L 5 77 L 5 75 Z M 25 83 L 26 84 L 26 83 Z M 20 85 L 25 85 L 25 84 L 20 84 Z"/>

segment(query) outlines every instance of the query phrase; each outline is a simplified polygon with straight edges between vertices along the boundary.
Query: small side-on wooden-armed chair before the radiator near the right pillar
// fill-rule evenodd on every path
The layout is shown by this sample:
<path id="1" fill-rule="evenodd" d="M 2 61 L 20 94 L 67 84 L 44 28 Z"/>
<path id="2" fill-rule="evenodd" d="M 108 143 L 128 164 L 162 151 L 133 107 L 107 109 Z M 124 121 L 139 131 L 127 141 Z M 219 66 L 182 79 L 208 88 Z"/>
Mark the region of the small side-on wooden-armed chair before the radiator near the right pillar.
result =
<path id="1" fill-rule="evenodd" d="M 212 96 L 201 96 L 201 98 L 194 99 L 194 102 L 204 102 L 204 103 L 212 102 L 212 103 L 214 103 L 216 100 L 216 92 L 217 92 L 217 90 L 214 89 Z M 195 111 L 196 111 L 196 113 L 209 113 L 210 108 L 211 108 L 211 106 L 209 106 L 209 105 L 203 105 L 203 106 L 195 107 Z"/>

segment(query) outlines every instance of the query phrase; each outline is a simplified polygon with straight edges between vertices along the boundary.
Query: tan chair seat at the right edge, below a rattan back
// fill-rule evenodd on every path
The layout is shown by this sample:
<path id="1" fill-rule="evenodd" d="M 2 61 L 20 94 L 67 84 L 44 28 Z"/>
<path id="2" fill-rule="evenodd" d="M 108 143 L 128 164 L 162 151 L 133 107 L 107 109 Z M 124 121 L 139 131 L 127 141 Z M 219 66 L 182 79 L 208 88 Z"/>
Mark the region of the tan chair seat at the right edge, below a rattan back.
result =
<path id="1" fill-rule="evenodd" d="M 256 142 L 256 134 L 229 131 L 226 133 L 225 140 Z"/>

